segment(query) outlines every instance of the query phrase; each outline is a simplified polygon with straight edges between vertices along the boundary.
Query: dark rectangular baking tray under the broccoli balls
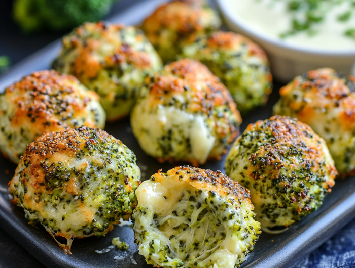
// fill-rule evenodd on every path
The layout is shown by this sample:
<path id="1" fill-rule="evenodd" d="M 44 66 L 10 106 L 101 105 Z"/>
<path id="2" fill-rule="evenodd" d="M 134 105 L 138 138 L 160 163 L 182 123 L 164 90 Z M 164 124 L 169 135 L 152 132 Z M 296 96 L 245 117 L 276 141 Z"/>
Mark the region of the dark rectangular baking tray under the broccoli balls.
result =
<path id="1" fill-rule="evenodd" d="M 139 2 L 109 21 L 137 24 L 162 2 L 163 0 Z M 56 41 L 14 66 L 8 73 L 0 77 L 0 89 L 3 91 L 6 86 L 32 71 L 48 69 L 50 62 L 57 55 L 59 47 L 60 41 Z M 276 83 L 267 106 L 258 108 L 250 116 L 243 118 L 241 131 L 248 123 L 271 116 L 272 105 L 278 99 L 279 87 L 280 84 Z M 105 130 L 135 152 L 138 165 L 142 170 L 143 180 L 160 168 L 167 171 L 175 166 L 160 164 L 147 156 L 133 137 L 128 119 L 108 124 Z M 152 267 L 147 265 L 144 258 L 138 255 L 137 246 L 133 242 L 133 231 L 128 226 L 115 227 L 114 231 L 105 238 L 75 239 L 72 247 L 73 255 L 66 255 L 44 229 L 29 226 L 23 210 L 10 203 L 7 183 L 11 180 L 16 166 L 3 157 L 0 157 L 0 163 L 1 228 L 44 265 L 77 268 Z M 202 168 L 223 171 L 223 164 L 224 159 L 221 162 L 208 162 Z M 242 267 L 292 267 L 297 261 L 336 234 L 353 217 L 355 217 L 355 178 L 351 177 L 345 181 L 337 181 L 332 193 L 327 195 L 323 206 L 292 225 L 288 231 L 278 235 L 263 233 L 255 246 L 255 252 L 246 258 Z M 113 249 L 104 254 L 95 253 L 95 250 L 110 246 L 111 239 L 117 236 L 129 244 L 128 252 Z"/>

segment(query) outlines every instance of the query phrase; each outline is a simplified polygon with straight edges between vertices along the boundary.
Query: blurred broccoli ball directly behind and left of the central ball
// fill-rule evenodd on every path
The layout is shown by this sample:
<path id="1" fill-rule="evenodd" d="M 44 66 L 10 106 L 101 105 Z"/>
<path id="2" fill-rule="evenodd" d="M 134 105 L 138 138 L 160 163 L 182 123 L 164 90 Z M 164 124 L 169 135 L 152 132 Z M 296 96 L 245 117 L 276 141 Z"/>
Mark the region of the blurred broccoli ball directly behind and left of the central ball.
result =
<path id="1" fill-rule="evenodd" d="M 113 121 L 128 115 L 144 78 L 162 63 L 141 30 L 122 24 L 84 23 L 64 36 L 53 69 L 76 76 Z"/>

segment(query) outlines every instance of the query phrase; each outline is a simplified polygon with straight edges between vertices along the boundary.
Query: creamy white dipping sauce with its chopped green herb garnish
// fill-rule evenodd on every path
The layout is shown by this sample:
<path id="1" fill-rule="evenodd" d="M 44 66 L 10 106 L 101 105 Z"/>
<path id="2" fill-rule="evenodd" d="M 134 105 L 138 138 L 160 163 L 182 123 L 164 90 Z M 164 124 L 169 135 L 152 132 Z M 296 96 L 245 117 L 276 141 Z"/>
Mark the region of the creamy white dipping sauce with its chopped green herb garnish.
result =
<path id="1" fill-rule="evenodd" d="M 258 34 L 305 48 L 355 49 L 355 0 L 221 0 Z"/>

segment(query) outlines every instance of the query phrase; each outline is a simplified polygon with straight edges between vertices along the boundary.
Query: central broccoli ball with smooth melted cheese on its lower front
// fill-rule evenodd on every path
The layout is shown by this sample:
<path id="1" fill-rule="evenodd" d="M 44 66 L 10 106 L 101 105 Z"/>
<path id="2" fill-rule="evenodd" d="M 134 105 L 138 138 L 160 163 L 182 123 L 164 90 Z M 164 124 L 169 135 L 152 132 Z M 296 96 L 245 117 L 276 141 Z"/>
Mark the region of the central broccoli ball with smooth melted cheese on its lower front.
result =
<path id="1" fill-rule="evenodd" d="M 220 159 L 238 135 L 241 118 L 219 79 L 201 63 L 185 59 L 165 66 L 148 82 L 131 114 L 141 148 L 162 162 L 197 166 Z"/>

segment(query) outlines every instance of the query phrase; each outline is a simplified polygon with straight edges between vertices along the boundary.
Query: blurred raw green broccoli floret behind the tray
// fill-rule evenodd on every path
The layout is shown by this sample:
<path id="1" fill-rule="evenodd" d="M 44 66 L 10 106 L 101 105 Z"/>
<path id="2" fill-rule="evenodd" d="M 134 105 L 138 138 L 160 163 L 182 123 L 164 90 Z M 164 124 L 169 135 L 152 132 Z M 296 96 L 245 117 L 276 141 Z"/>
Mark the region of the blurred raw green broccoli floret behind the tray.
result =
<path id="1" fill-rule="evenodd" d="M 25 33 L 67 30 L 107 15 L 117 0 L 15 0 L 13 18 Z"/>

